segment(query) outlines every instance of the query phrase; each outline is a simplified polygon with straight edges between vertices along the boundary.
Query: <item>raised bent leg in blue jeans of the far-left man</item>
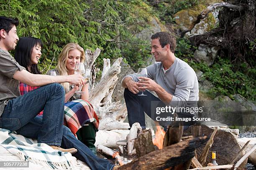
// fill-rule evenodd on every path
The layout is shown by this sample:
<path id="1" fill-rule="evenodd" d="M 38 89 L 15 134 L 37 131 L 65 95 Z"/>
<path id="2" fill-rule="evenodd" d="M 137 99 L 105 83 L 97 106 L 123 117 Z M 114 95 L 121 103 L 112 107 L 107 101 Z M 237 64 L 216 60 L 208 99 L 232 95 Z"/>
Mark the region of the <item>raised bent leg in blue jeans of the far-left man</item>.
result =
<path id="1" fill-rule="evenodd" d="M 64 119 L 65 91 L 58 83 L 42 86 L 13 100 L 9 100 L 0 117 L 0 128 L 15 130 L 26 136 L 33 118 L 44 110 L 38 143 L 61 145 Z"/>

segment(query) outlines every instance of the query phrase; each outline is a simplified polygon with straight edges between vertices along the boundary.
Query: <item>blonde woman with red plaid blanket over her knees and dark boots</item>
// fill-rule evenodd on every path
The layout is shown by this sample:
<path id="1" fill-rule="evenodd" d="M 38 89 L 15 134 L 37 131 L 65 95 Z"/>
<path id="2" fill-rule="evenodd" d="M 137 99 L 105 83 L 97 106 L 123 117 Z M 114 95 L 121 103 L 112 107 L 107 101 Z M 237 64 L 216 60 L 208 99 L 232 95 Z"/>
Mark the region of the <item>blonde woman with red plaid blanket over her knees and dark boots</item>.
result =
<path id="1" fill-rule="evenodd" d="M 56 69 L 49 70 L 49 72 L 55 71 L 56 75 L 72 75 L 74 74 L 76 62 L 84 62 L 84 60 L 84 49 L 77 43 L 69 43 L 64 46 L 63 50 L 59 54 Z M 76 133 L 77 138 L 96 154 L 94 143 L 96 131 L 99 126 L 99 120 L 92 105 L 88 101 L 89 84 L 82 87 L 82 91 L 84 92 L 82 95 L 75 93 L 75 91 L 79 90 L 79 87 L 76 85 L 69 83 L 61 83 L 61 85 L 66 91 L 65 118 L 67 122 L 64 122 L 64 124 L 71 123 L 71 125 L 68 125 L 71 130 L 72 126 L 76 126 L 74 131 L 78 130 L 82 126 L 82 128 L 80 128 Z M 72 115 L 72 117 L 70 117 L 70 115 Z M 74 118 L 77 121 L 74 121 Z M 79 127 L 77 124 L 79 124 Z"/>

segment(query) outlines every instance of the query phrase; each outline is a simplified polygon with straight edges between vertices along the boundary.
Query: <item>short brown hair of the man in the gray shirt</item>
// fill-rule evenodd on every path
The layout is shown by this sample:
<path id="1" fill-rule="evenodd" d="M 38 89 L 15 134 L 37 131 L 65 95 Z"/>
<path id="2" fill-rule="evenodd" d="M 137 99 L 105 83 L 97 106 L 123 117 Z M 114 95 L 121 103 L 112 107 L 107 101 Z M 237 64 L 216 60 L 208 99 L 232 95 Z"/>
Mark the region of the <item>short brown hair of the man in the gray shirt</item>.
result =
<path id="1" fill-rule="evenodd" d="M 176 38 L 168 32 L 157 32 L 151 36 L 151 40 L 159 39 L 160 45 L 163 48 L 165 45 L 170 45 L 170 50 L 174 53 L 176 48 Z"/>

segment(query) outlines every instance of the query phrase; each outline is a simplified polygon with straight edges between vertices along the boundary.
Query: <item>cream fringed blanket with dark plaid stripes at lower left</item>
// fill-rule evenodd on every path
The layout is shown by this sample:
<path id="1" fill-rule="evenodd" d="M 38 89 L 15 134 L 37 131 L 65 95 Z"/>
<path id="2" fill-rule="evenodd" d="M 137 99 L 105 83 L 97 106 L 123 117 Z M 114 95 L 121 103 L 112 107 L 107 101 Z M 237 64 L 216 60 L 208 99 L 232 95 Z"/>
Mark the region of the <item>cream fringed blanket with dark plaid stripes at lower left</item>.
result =
<path id="1" fill-rule="evenodd" d="M 0 145 L 21 160 L 40 164 L 51 169 L 72 169 L 76 158 L 70 153 L 54 150 L 45 143 L 25 138 L 12 131 L 0 128 Z"/>

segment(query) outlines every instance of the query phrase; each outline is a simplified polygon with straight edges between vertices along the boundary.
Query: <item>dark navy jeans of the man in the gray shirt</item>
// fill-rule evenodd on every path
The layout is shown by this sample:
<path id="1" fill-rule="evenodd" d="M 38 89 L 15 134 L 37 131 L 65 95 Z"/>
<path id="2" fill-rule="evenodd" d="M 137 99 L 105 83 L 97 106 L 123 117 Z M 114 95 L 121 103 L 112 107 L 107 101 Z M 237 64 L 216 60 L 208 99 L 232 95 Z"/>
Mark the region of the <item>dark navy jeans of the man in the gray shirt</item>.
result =
<path id="1" fill-rule="evenodd" d="M 139 92 L 141 93 L 141 92 Z M 124 91 L 124 98 L 125 98 L 125 104 L 127 107 L 128 112 L 128 122 L 130 127 L 132 127 L 133 123 L 138 122 L 141 125 L 142 129 L 146 129 L 145 124 L 145 115 L 144 112 L 151 117 L 151 119 L 156 120 L 156 114 L 155 110 L 156 107 L 165 107 L 166 105 L 164 102 L 162 102 L 159 98 L 154 96 L 151 92 L 148 92 L 147 90 L 144 92 L 147 96 L 138 96 L 138 94 L 133 94 L 128 88 L 125 88 Z M 152 105 L 152 102 L 154 102 L 154 105 Z M 156 104 L 157 103 L 157 104 Z M 169 114 L 169 113 L 168 113 Z M 167 117 L 170 115 L 164 115 L 164 113 L 161 113 L 161 117 Z M 179 117 L 190 117 L 190 115 L 185 115 L 183 113 L 178 113 Z M 159 124 L 164 127 L 164 129 L 167 129 L 167 125 L 171 124 L 172 122 L 163 122 L 159 121 Z M 191 125 L 194 122 L 185 122 L 184 130 L 186 130 L 189 125 Z"/>

